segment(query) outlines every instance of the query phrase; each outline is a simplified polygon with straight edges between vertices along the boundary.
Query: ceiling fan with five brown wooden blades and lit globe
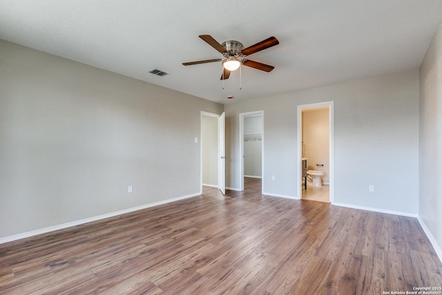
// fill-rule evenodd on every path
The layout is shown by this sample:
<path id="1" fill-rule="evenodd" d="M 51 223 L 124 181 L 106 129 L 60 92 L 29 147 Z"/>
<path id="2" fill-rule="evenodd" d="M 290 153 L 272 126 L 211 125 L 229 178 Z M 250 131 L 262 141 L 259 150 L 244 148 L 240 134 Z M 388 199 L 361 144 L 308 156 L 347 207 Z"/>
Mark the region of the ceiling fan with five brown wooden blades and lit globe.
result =
<path id="1" fill-rule="evenodd" d="M 222 80 L 229 79 L 231 71 L 238 69 L 241 64 L 243 64 L 244 66 L 250 66 L 251 68 L 256 68 L 258 70 L 264 70 L 265 72 L 270 72 L 271 70 L 273 70 L 273 68 L 275 68 L 274 66 L 262 64 L 258 61 L 253 61 L 249 59 L 238 59 L 238 57 L 247 57 L 248 55 L 252 55 L 253 53 L 257 53 L 258 51 L 278 45 L 279 41 L 275 37 L 269 37 L 247 48 L 244 48 L 241 42 L 235 40 L 224 41 L 222 42 L 222 44 L 219 44 L 218 41 L 213 39 L 211 35 L 200 35 L 199 37 L 206 41 L 207 44 L 218 50 L 218 52 L 222 54 L 224 59 L 206 59 L 200 61 L 183 62 L 182 64 L 184 66 L 222 61 Z"/>

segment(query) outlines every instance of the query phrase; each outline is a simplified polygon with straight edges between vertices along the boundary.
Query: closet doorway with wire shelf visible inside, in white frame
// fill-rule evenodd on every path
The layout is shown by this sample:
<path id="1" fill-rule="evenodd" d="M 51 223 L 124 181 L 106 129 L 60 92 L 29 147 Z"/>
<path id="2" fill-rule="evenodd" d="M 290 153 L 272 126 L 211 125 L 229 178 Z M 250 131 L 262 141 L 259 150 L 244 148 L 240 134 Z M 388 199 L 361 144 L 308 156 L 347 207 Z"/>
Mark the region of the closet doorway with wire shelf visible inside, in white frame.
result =
<path id="1" fill-rule="evenodd" d="M 240 113 L 240 191 L 244 182 L 260 184 L 262 191 L 264 146 L 264 112 Z"/>

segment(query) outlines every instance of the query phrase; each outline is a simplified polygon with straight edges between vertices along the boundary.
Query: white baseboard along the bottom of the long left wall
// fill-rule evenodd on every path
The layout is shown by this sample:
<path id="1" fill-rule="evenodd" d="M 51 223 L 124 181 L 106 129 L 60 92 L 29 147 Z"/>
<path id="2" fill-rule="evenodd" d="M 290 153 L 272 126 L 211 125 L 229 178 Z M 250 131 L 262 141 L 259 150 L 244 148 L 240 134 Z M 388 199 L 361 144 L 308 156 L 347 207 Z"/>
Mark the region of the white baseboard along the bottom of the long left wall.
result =
<path id="1" fill-rule="evenodd" d="M 162 205 L 162 204 L 167 204 L 167 203 L 170 203 L 170 202 L 184 200 L 186 198 L 192 198 L 192 197 L 200 196 L 200 195 L 201 195 L 201 193 L 191 193 L 190 195 L 186 195 L 186 196 L 181 196 L 181 197 L 172 198 L 172 199 L 168 199 L 168 200 L 163 200 L 163 201 L 159 201 L 159 202 L 153 202 L 151 204 L 145 204 L 145 205 L 138 206 L 138 207 L 133 207 L 133 208 L 124 209 L 124 210 L 120 210 L 120 211 L 116 211 L 116 212 L 106 213 L 106 214 L 103 214 L 103 215 L 100 215 L 100 216 L 94 216 L 94 217 L 90 217 L 90 218 L 76 220 L 76 221 L 73 221 L 73 222 L 63 223 L 61 225 L 54 225 L 52 227 L 46 227 L 44 229 L 36 229 L 35 231 L 28 231 L 26 233 L 17 234 L 17 235 L 14 235 L 14 236 L 7 236 L 5 238 L 0 238 L 0 244 L 3 244 L 5 242 L 12 242 L 13 240 L 20 240 L 22 238 L 29 238 L 31 236 L 37 236 L 37 235 L 40 235 L 40 234 L 46 234 L 46 233 L 48 233 L 50 231 L 57 231 L 59 229 L 66 229 L 68 227 L 75 227 L 77 225 L 83 225 L 83 224 L 88 223 L 88 222 L 93 222 L 93 221 L 102 220 L 102 219 L 105 219 L 105 218 L 119 216 L 119 215 L 122 215 L 122 214 L 131 213 L 133 211 L 147 209 L 147 208 L 150 208 L 150 207 L 155 207 L 155 206 L 159 206 L 159 205 Z"/>

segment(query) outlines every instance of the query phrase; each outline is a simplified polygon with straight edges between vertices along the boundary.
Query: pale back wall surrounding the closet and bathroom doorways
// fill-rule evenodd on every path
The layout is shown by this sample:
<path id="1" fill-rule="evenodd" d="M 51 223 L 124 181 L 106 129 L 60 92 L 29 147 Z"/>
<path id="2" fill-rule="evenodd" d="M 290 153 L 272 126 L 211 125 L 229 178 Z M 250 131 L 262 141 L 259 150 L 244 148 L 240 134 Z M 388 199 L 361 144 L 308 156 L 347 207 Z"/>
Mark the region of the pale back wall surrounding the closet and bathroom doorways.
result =
<path id="1" fill-rule="evenodd" d="M 264 111 L 263 191 L 296 198 L 297 106 L 329 101 L 334 102 L 335 202 L 416 215 L 419 70 L 227 104 L 227 185 L 238 188 L 240 181 L 238 114 Z"/>

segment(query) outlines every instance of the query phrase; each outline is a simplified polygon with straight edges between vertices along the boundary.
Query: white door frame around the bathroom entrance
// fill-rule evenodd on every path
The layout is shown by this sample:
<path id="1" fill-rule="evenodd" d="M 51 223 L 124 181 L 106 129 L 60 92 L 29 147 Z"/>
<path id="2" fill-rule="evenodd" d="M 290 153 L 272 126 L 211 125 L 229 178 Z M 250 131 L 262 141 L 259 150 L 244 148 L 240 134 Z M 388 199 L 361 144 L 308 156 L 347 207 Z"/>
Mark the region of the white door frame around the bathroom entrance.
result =
<path id="1" fill-rule="evenodd" d="M 298 140 L 298 198 L 302 199 L 302 110 L 307 108 L 317 108 L 320 106 L 329 107 L 329 200 L 330 204 L 334 204 L 334 102 L 319 102 L 316 104 L 302 104 L 298 106 L 298 126 L 297 126 L 297 140 Z"/>

